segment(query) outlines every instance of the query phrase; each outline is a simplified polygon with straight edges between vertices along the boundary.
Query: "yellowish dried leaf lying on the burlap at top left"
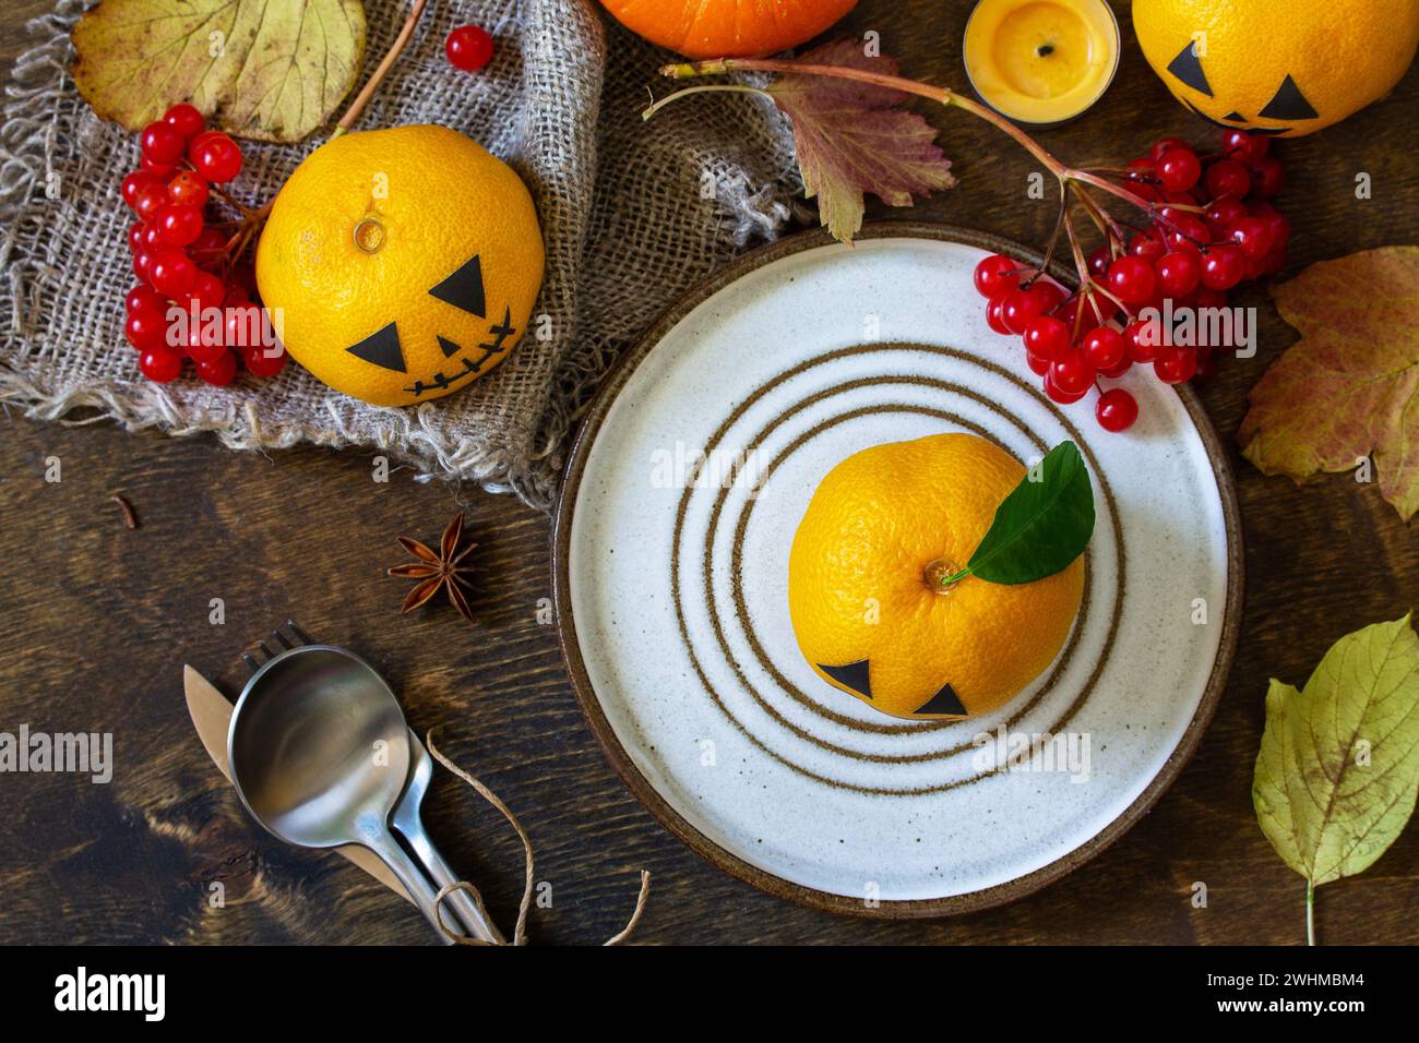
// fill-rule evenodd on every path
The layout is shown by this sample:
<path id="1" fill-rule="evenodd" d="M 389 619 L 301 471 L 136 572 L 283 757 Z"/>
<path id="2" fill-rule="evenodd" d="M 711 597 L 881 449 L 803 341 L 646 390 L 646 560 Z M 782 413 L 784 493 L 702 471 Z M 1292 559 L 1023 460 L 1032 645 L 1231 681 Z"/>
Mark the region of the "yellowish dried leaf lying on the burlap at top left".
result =
<path id="1" fill-rule="evenodd" d="M 360 0 L 102 0 L 74 27 L 74 79 L 138 131 L 175 102 L 209 125 L 294 142 L 321 126 L 365 58 Z"/>

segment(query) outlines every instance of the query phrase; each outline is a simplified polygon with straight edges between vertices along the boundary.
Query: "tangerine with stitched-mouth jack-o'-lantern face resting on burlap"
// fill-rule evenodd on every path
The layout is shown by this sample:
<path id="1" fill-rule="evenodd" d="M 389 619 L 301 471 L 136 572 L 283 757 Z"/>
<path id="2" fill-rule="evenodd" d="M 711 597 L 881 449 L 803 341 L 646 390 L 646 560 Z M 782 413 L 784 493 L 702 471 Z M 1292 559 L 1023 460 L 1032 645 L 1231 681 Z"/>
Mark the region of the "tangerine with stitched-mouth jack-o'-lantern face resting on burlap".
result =
<path id="1" fill-rule="evenodd" d="M 526 186 L 455 131 L 400 126 L 322 145 L 281 189 L 257 248 L 291 356 L 379 406 L 467 387 L 517 346 L 542 282 Z"/>

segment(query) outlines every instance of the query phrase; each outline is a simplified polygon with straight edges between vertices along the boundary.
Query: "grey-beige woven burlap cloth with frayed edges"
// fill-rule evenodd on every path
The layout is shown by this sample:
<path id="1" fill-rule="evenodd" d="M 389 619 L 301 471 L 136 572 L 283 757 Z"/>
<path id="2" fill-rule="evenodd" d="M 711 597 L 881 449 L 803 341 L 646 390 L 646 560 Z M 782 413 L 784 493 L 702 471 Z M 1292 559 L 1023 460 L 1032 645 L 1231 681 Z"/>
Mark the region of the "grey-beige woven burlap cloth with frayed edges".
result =
<path id="1" fill-rule="evenodd" d="M 35 45 L 6 88 L 0 403 L 27 416 L 211 431 L 244 450 L 356 446 L 546 509 L 565 436 L 617 352 L 692 282 L 776 236 L 800 193 L 788 125 L 763 99 L 707 95 L 643 122 L 667 54 L 595 0 L 433 0 L 356 129 L 441 123 L 518 170 L 542 219 L 546 281 L 534 315 L 551 316 L 551 339 L 529 333 L 490 376 L 410 409 L 366 406 L 295 365 L 230 387 L 193 376 L 153 385 L 122 332 L 133 275 L 119 180 L 138 163 L 135 135 L 96 119 L 68 75 L 68 33 L 87 6 L 60 0 L 30 24 Z M 368 75 L 407 6 L 365 7 Z M 492 64 L 471 77 L 443 54 L 464 23 L 497 38 Z M 245 145 L 234 192 L 270 199 L 325 136 Z"/>

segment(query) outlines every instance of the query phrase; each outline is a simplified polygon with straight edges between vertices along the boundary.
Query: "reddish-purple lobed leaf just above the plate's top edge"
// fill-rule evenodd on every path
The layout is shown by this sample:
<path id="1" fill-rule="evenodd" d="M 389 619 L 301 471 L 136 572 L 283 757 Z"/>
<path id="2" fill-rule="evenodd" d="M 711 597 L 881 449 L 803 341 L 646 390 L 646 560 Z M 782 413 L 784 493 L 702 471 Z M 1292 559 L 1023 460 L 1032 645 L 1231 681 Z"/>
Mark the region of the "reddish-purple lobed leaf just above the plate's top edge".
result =
<path id="1" fill-rule="evenodd" d="M 891 58 L 868 58 L 861 41 L 836 40 L 799 58 L 800 64 L 847 65 L 897 75 Z M 793 122 L 803 187 L 817 197 L 819 219 L 834 238 L 851 243 L 863 226 L 863 193 L 888 206 L 911 206 L 956 183 L 951 160 L 937 148 L 937 129 L 898 108 L 907 95 L 873 84 L 789 72 L 766 88 Z"/>

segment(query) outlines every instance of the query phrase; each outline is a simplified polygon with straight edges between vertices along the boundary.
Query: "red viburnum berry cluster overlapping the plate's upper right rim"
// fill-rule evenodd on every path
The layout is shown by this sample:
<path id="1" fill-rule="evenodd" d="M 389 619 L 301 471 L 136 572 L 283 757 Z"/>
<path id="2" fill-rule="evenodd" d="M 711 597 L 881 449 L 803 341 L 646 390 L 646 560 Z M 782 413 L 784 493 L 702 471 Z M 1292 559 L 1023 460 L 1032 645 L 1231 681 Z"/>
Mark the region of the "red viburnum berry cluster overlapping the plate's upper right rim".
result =
<path id="1" fill-rule="evenodd" d="M 1151 365 L 1169 385 L 1212 375 L 1227 345 L 1175 343 L 1169 329 L 1149 329 L 1139 314 L 1165 314 L 1166 302 L 1174 315 L 1222 308 L 1237 284 L 1281 270 L 1290 224 L 1270 199 L 1284 184 L 1284 169 L 1269 146 L 1263 135 L 1230 131 L 1220 152 L 1199 158 L 1188 142 L 1166 138 L 1124 169 L 1100 170 L 1151 220 L 1130 236 L 1093 206 L 1105 243 L 1080 265 L 1076 294 L 1002 254 L 976 265 L 976 289 L 989 301 L 986 322 L 1025 341 L 1030 369 L 1051 400 L 1078 402 L 1098 386 L 1100 426 L 1122 431 L 1138 419 L 1138 403 L 1122 387 L 1101 387 L 1100 379 L 1118 379 L 1135 365 Z M 1067 209 L 1060 224 L 1083 261 Z"/>

